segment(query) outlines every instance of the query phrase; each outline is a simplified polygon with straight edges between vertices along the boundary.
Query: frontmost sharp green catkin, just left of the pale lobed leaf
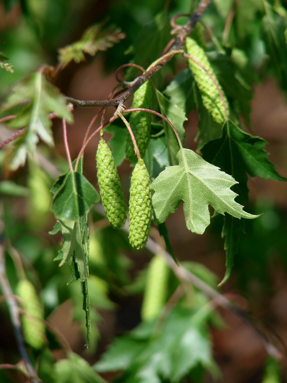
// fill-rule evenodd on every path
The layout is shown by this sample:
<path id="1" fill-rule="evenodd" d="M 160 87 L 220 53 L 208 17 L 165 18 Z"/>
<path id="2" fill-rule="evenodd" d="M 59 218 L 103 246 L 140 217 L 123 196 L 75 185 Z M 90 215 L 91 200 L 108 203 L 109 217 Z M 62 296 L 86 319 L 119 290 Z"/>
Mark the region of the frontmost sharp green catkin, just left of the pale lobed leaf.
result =
<path id="1" fill-rule="evenodd" d="M 152 190 L 145 163 L 139 159 L 132 172 L 129 200 L 129 240 L 141 249 L 147 243 L 152 221 Z"/>

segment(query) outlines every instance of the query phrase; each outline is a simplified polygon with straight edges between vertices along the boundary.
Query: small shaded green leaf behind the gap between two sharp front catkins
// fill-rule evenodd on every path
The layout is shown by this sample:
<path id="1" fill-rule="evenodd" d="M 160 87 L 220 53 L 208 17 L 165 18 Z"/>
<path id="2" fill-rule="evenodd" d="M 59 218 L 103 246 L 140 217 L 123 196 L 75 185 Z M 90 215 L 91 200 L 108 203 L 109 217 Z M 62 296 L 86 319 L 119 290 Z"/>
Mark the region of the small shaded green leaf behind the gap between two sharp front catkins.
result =
<path id="1" fill-rule="evenodd" d="M 109 140 L 109 146 L 112 148 L 114 163 L 116 167 L 120 166 L 126 158 L 126 140 L 128 130 L 125 126 L 118 126 L 116 123 L 110 124 L 105 132 L 112 133 L 113 137 Z"/>

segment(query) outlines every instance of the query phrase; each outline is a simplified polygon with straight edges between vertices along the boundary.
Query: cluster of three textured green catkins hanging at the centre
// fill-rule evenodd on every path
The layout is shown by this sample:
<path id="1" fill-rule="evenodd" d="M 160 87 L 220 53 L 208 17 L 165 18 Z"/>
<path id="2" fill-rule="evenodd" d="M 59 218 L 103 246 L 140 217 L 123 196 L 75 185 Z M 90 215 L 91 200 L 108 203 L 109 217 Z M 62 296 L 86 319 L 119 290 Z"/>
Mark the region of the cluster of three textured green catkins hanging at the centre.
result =
<path id="1" fill-rule="evenodd" d="M 135 92 L 132 108 L 150 109 L 151 99 L 152 88 L 147 81 Z M 130 126 L 143 156 L 150 139 L 150 113 L 142 111 L 132 113 Z M 132 164 L 137 161 L 130 181 L 129 241 L 133 247 L 140 249 L 147 243 L 152 221 L 150 176 L 143 160 L 135 156 L 130 136 L 126 142 L 126 155 Z M 99 141 L 96 162 L 99 191 L 106 216 L 111 226 L 119 229 L 124 226 L 127 219 L 126 202 L 113 155 L 103 138 Z"/>

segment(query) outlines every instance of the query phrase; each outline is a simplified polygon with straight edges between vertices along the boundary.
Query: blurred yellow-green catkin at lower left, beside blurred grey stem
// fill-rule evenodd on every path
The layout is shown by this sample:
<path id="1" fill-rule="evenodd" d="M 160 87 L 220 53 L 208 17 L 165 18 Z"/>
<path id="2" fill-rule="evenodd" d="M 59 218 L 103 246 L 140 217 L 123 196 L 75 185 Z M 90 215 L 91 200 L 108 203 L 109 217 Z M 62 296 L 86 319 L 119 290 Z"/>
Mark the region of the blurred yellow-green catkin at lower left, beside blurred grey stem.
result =
<path id="1" fill-rule="evenodd" d="M 45 326 L 41 321 L 44 313 L 36 289 L 30 281 L 23 279 L 18 282 L 16 293 L 23 301 L 21 322 L 24 339 L 34 349 L 41 349 L 45 343 Z"/>

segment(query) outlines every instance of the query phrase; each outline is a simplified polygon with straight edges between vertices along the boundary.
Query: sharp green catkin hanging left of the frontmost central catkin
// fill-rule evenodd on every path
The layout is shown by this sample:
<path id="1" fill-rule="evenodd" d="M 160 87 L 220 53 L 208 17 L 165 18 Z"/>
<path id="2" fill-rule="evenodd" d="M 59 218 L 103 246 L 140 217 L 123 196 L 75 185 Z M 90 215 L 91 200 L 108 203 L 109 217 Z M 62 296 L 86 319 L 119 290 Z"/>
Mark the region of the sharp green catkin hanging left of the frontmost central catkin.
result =
<path id="1" fill-rule="evenodd" d="M 96 161 L 104 211 L 111 226 L 120 229 L 127 219 L 126 202 L 112 152 L 104 139 L 99 141 Z"/>

